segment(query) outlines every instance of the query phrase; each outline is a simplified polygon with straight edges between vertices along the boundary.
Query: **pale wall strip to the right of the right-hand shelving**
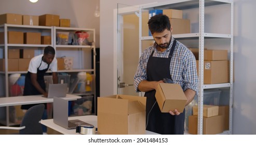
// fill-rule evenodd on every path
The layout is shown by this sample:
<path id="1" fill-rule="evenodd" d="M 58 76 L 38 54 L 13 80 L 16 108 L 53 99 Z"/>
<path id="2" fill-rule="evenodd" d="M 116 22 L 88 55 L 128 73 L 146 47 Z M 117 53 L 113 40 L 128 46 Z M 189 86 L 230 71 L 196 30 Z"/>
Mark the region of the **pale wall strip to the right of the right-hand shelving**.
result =
<path id="1" fill-rule="evenodd" d="M 234 134 L 256 134 L 256 1 L 234 1 Z"/>

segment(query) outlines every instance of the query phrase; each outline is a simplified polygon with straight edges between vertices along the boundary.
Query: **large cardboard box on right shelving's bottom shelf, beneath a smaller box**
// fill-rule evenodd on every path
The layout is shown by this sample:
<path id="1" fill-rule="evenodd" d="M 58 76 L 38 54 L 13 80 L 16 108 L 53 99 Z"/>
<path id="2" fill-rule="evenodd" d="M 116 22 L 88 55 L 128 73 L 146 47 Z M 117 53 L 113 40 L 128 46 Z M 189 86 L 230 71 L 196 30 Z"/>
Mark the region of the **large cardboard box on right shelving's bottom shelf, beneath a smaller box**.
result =
<path id="1" fill-rule="evenodd" d="M 203 134 L 214 135 L 223 132 L 223 116 L 217 115 L 214 117 L 203 118 Z M 188 133 L 197 134 L 197 116 L 191 115 L 188 117 Z"/>

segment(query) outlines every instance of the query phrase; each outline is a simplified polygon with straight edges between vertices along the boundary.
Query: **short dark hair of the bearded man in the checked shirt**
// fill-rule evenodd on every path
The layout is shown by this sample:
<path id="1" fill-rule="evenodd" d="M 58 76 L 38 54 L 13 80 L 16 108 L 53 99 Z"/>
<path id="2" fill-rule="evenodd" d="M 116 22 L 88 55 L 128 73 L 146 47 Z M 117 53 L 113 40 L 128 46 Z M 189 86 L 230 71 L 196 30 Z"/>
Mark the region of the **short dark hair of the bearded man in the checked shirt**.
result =
<path id="1" fill-rule="evenodd" d="M 149 25 L 149 29 L 151 34 L 154 34 L 155 32 L 161 33 L 164 30 L 171 30 L 171 24 L 170 20 L 166 15 L 158 14 L 150 18 L 149 22 L 147 22 Z"/>

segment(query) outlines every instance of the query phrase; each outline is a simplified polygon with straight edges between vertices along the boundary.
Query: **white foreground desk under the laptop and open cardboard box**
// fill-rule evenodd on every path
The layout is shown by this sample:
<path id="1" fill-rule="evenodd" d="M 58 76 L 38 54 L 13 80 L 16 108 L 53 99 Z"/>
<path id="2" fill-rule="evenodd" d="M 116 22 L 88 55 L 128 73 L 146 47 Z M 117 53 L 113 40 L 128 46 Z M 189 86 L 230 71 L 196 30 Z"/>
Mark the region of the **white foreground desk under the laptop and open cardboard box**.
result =
<path id="1" fill-rule="evenodd" d="M 97 116 L 96 115 L 85 115 L 85 116 L 79 116 L 79 117 L 69 117 L 69 120 L 75 120 L 75 119 L 90 123 L 90 124 L 94 125 L 95 127 L 97 127 Z M 50 127 L 50 128 L 52 128 L 52 129 L 56 130 L 57 132 L 60 132 L 64 135 L 79 134 L 79 133 L 76 133 L 75 129 L 66 129 L 64 127 L 61 127 L 61 126 L 53 123 L 53 119 L 41 120 L 41 124 L 44 124 L 45 126 Z M 157 133 L 153 133 L 153 132 L 150 132 L 148 130 L 146 130 L 146 134 L 147 135 L 157 135 Z"/>

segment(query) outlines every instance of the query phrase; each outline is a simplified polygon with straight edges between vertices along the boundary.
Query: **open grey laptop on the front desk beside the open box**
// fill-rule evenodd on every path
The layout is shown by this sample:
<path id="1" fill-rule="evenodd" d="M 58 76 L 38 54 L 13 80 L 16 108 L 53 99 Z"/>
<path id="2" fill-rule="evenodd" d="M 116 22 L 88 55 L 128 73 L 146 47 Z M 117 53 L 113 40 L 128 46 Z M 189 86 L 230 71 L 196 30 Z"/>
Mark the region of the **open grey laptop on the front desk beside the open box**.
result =
<path id="1" fill-rule="evenodd" d="M 69 120 L 69 100 L 58 97 L 53 97 L 53 122 L 66 129 L 75 129 L 77 125 L 94 126 L 80 120 Z"/>

